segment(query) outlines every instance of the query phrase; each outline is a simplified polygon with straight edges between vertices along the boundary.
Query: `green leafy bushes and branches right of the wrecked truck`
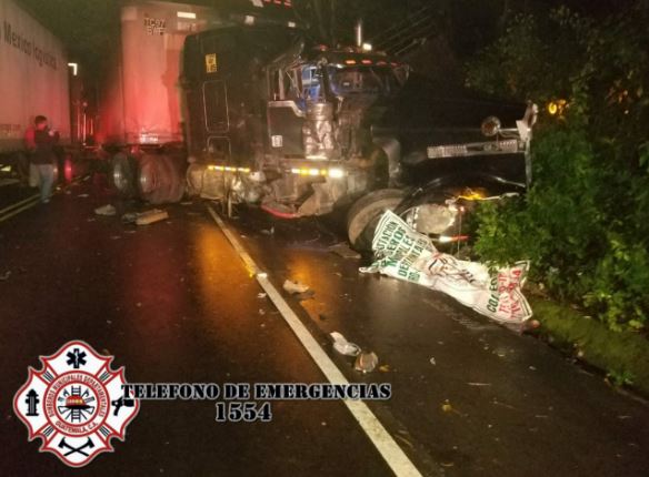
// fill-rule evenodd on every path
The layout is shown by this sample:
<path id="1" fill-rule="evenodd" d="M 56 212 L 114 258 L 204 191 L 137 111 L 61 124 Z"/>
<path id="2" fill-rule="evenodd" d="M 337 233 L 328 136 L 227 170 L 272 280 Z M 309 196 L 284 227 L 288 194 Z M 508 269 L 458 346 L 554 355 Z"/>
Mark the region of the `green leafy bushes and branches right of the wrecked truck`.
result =
<path id="1" fill-rule="evenodd" d="M 467 70 L 491 94 L 567 101 L 541 116 L 527 196 L 480 207 L 476 252 L 530 258 L 532 278 L 612 329 L 649 325 L 648 16 L 520 16 Z"/>

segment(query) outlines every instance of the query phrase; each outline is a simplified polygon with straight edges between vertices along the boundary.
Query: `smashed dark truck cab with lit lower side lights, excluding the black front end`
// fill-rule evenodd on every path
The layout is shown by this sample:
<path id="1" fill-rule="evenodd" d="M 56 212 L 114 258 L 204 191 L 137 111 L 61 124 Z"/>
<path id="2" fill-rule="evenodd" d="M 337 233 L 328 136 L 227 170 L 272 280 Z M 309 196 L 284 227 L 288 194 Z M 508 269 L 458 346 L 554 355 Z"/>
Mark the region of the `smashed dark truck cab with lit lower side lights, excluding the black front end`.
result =
<path id="1" fill-rule="evenodd" d="M 186 40 L 190 191 L 280 217 L 330 213 L 389 175 L 371 124 L 408 69 L 360 47 L 233 24 Z"/>

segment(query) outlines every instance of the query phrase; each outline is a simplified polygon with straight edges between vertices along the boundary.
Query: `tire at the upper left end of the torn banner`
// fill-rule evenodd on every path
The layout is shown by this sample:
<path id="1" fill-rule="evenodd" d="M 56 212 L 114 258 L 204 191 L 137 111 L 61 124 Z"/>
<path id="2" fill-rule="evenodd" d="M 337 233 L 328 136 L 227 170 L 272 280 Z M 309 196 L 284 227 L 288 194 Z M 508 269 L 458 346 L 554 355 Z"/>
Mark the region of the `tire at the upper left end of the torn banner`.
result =
<path id="1" fill-rule="evenodd" d="M 359 252 L 370 251 L 375 230 L 386 211 L 393 211 L 406 196 L 399 189 L 381 189 L 359 199 L 347 214 L 349 243 Z"/>

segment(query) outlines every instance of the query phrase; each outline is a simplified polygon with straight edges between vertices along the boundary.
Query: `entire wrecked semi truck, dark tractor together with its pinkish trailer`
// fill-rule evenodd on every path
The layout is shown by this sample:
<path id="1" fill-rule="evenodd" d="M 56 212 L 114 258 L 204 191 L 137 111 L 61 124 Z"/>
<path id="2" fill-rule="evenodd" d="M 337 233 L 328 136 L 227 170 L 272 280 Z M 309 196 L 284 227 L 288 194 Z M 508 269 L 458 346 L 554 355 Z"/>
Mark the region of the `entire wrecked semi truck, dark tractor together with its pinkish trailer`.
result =
<path id="1" fill-rule="evenodd" d="M 350 242 L 365 248 L 386 209 L 455 242 L 472 203 L 529 184 L 533 104 L 445 98 L 371 51 L 360 24 L 355 44 L 320 44 L 291 0 L 240 4 L 122 9 L 119 113 L 102 120 L 118 132 L 106 139 L 119 139 L 122 194 L 187 193 L 281 219 L 348 207 Z"/>

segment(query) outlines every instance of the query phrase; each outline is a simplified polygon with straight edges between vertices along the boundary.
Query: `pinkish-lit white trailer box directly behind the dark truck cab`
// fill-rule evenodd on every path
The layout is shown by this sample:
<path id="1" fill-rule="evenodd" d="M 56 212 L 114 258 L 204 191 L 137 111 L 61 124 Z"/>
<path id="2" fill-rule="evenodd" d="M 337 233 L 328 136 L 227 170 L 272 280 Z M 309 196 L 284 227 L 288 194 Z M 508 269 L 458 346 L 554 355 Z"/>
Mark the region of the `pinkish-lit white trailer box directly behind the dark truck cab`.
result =
<path id="1" fill-rule="evenodd" d="M 183 140 L 178 79 L 184 37 L 216 20 L 213 9 L 161 1 L 121 8 L 99 105 L 100 144 L 162 145 Z"/>

